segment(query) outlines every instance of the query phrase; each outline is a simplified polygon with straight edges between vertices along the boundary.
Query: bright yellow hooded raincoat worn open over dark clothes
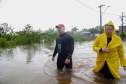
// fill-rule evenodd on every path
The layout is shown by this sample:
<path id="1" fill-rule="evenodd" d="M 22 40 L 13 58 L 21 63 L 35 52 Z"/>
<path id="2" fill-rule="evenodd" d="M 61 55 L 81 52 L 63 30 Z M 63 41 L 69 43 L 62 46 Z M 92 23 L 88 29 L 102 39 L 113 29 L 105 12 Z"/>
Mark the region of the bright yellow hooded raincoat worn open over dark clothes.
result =
<path id="1" fill-rule="evenodd" d="M 112 21 L 109 21 L 107 24 L 114 26 Z M 107 53 L 99 52 L 101 48 L 105 47 L 109 48 L 109 52 Z M 110 41 L 108 46 L 107 46 L 107 35 L 104 30 L 104 33 L 96 38 L 93 44 L 93 50 L 97 53 L 96 66 L 94 67 L 93 71 L 99 72 L 104 66 L 104 63 L 106 61 L 113 77 L 119 79 L 120 78 L 119 66 L 120 64 L 122 66 L 126 66 L 126 59 L 124 57 L 122 40 L 119 36 L 116 35 L 115 28 L 114 31 L 112 32 L 112 40 Z"/>

